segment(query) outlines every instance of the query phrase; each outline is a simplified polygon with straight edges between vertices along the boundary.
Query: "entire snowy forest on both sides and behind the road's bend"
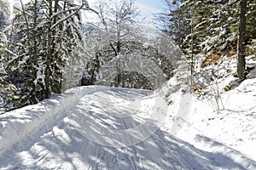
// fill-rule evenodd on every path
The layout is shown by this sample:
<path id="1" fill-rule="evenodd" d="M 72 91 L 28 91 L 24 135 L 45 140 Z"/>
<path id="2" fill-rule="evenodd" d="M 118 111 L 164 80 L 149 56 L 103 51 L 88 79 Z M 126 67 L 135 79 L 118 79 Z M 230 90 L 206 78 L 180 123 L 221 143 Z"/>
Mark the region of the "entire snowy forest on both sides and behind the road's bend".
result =
<path id="1" fill-rule="evenodd" d="M 180 62 L 192 92 L 201 89 L 200 59 L 203 68 L 237 56 L 239 82 L 253 69 L 245 58 L 256 53 L 256 0 L 164 0 L 154 26 L 137 18 L 134 0 L 10 2 L 0 0 L 3 112 L 77 86 L 153 90 Z M 84 20 L 87 15 L 96 19 Z"/>

